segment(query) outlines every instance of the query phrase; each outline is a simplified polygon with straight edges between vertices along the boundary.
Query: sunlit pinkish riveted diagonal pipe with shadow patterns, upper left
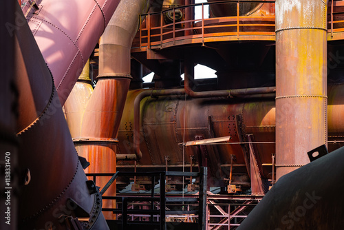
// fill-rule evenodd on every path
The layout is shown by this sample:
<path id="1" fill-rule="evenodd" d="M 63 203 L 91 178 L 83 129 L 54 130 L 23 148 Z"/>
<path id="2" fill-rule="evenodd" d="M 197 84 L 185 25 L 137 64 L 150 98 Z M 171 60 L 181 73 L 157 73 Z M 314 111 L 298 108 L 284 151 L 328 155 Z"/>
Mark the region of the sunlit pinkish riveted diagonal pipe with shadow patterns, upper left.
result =
<path id="1" fill-rule="evenodd" d="M 36 2 L 39 14 L 32 8 L 25 13 L 26 19 L 63 105 L 119 0 Z"/>

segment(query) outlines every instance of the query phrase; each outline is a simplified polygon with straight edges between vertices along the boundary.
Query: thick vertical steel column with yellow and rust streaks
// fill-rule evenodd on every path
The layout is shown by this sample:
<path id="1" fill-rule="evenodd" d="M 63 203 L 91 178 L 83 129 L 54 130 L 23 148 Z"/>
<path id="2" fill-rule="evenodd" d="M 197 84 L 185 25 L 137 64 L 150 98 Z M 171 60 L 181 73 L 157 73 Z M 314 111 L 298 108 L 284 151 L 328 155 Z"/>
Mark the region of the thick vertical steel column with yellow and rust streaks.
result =
<path id="1" fill-rule="evenodd" d="M 327 144 L 327 4 L 276 1 L 277 180 Z"/>

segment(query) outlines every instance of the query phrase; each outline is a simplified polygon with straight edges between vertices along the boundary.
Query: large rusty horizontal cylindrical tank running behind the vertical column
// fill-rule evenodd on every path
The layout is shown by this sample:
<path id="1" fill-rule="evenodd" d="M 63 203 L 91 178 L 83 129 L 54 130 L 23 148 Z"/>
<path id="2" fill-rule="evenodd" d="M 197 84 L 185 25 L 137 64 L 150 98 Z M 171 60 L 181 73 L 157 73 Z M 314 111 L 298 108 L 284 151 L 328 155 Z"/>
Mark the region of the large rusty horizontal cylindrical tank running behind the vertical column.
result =
<path id="1" fill-rule="evenodd" d="M 344 109 L 343 87 L 344 85 L 329 87 L 328 118 L 331 140 L 344 138 L 344 123 L 340 118 L 341 113 L 337 112 Z M 131 90 L 128 93 L 118 133 L 117 154 L 133 152 L 133 101 L 142 91 Z M 169 167 L 181 168 L 183 142 L 195 140 L 195 136 L 203 136 L 204 139 L 231 136 L 227 144 L 206 145 L 213 185 L 219 185 L 220 180 L 228 177 L 231 154 L 236 156 L 233 180 L 249 182 L 243 152 L 245 148 L 241 148 L 237 143 L 239 143 L 238 135 L 241 134 L 247 142 L 246 135 L 253 134 L 257 155 L 261 164 L 264 164 L 262 176 L 272 178 L 272 167 L 269 164 L 272 163 L 271 154 L 275 154 L 275 100 L 264 98 L 245 100 L 189 97 L 185 100 L 184 96 L 144 98 L 140 106 L 142 159 L 138 162 L 138 167 L 142 165 L 152 168 L 164 167 L 164 157 L 169 156 Z M 237 125 L 237 115 L 241 117 L 242 125 Z M 341 147 L 341 143 L 329 143 L 330 151 L 338 147 Z M 191 155 L 197 159 L 197 151 L 197 147 L 185 148 L 185 164 L 190 164 Z M 306 152 L 303 154 L 307 156 Z M 119 167 L 121 165 L 132 166 L 132 163 L 118 163 Z"/>

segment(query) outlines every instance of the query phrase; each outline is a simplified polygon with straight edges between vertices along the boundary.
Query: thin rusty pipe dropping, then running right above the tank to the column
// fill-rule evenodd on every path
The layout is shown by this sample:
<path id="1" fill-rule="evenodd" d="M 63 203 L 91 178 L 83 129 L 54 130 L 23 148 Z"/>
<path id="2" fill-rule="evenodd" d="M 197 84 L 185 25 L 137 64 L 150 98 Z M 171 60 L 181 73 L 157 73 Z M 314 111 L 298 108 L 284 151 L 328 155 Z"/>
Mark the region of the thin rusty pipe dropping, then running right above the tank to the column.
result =
<path id="1" fill-rule="evenodd" d="M 193 91 L 194 82 L 194 65 L 191 59 L 184 59 L 184 89 L 186 94 L 192 98 L 211 98 L 211 97 L 233 97 L 233 96 L 248 96 L 255 94 L 273 94 L 276 92 L 275 87 L 257 87 L 248 89 L 235 89 L 235 90 L 216 90 L 216 91 Z"/>

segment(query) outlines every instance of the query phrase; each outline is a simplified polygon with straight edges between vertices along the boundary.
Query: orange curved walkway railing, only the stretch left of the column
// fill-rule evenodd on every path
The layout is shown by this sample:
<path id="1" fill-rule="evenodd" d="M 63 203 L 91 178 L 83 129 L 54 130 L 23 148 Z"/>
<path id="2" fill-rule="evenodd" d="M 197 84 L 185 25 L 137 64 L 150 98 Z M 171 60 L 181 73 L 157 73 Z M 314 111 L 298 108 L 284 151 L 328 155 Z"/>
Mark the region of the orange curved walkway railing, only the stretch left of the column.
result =
<path id="1" fill-rule="evenodd" d="M 220 31 L 217 32 L 216 34 L 218 34 L 217 36 L 236 36 L 237 39 L 239 38 L 239 35 L 241 33 L 244 33 L 243 35 L 269 35 L 269 36 L 274 36 L 275 35 L 275 30 L 273 30 L 273 28 L 271 29 L 272 26 L 275 25 L 275 23 L 272 24 L 272 19 L 273 17 L 270 16 L 264 16 L 266 17 L 266 20 L 263 20 L 263 23 L 261 23 L 261 20 L 259 19 L 259 17 L 261 16 L 250 16 L 250 17 L 246 17 L 246 16 L 240 16 L 239 15 L 239 9 L 240 9 L 240 5 L 239 3 L 245 3 L 245 2 L 257 2 L 257 3 L 275 3 L 275 1 L 264 1 L 264 0 L 226 0 L 226 1 L 213 1 L 213 2 L 208 2 L 208 3 L 195 3 L 195 4 L 191 4 L 188 6 L 178 6 L 175 8 L 169 8 L 166 10 L 162 10 L 160 12 L 149 12 L 147 14 L 140 14 L 140 18 L 146 16 L 146 23 L 141 23 L 140 25 L 140 31 L 139 31 L 139 43 L 133 46 L 133 48 L 140 48 L 139 50 L 142 51 L 142 48 L 147 47 L 148 49 L 151 49 L 152 45 L 156 47 L 156 45 L 158 45 L 158 47 L 160 46 L 160 48 L 163 48 L 163 45 L 165 43 L 171 43 L 171 45 L 175 45 L 175 43 L 177 41 L 183 40 L 185 38 L 187 39 L 200 39 L 200 42 L 203 44 L 204 40 L 208 37 L 213 36 L 214 34 L 211 33 L 211 30 L 214 28 L 230 28 L 233 26 L 236 26 L 236 31 L 234 29 L 233 34 L 222 34 L 223 32 L 228 33 L 228 30 L 231 32 L 232 29 L 225 29 L 227 31 Z M 209 6 L 209 5 L 214 5 L 214 4 L 228 4 L 228 3 L 237 3 L 237 15 L 233 16 L 233 17 L 213 17 L 213 18 L 209 18 L 209 19 L 205 19 L 204 18 L 204 6 Z M 186 10 L 189 8 L 195 8 L 195 7 L 201 7 L 202 8 L 202 17 L 201 19 L 188 19 L 188 20 L 184 20 L 184 21 L 175 21 L 175 12 L 176 10 Z M 173 21 L 171 23 L 168 23 L 166 25 L 164 25 L 164 20 L 163 20 L 163 14 L 166 12 L 173 12 Z M 153 18 L 153 15 L 157 15 L 158 17 L 160 17 L 160 19 L 158 19 L 158 21 L 160 21 L 160 25 L 158 26 L 154 26 L 151 27 L 152 23 L 151 23 L 151 19 Z M 233 23 L 235 19 L 235 24 L 233 25 L 207 25 L 206 21 L 208 21 L 208 23 Z M 243 19 L 247 19 L 248 21 L 251 21 L 252 19 L 255 19 L 255 21 L 257 21 L 257 23 L 259 22 L 259 24 L 257 23 L 250 23 L 250 24 L 245 24 L 245 23 L 240 23 L 240 21 L 242 21 Z M 215 20 L 219 20 L 217 22 L 215 22 Z M 214 21 L 214 22 L 213 22 Z M 264 21 L 266 23 L 264 23 Z M 275 20 L 274 20 L 275 21 Z M 269 23 L 270 22 L 270 23 Z M 189 24 L 193 24 L 195 25 L 195 23 L 200 23 L 200 26 L 197 27 L 189 27 L 186 26 L 185 28 L 183 27 L 183 25 L 186 25 L 186 23 Z M 259 30 L 256 31 L 252 31 L 249 32 L 251 34 L 247 34 L 248 32 L 240 32 L 240 28 L 241 27 L 250 27 L 250 30 L 252 30 L 252 28 L 254 26 L 260 26 L 263 27 L 264 29 L 266 28 L 270 28 L 267 29 L 265 32 L 264 30 L 262 32 L 260 32 Z M 169 31 L 166 31 L 169 30 Z M 194 34 L 193 31 L 195 30 L 199 30 L 200 32 L 198 32 L 198 34 Z M 191 31 L 190 33 L 187 33 L 187 31 Z M 183 32 L 185 32 L 186 34 L 184 34 Z M 259 34 L 261 33 L 261 34 Z M 268 34 L 267 34 L 268 33 Z M 271 37 L 269 37 L 269 40 L 271 40 Z M 138 46 L 137 46 L 138 45 Z"/>

